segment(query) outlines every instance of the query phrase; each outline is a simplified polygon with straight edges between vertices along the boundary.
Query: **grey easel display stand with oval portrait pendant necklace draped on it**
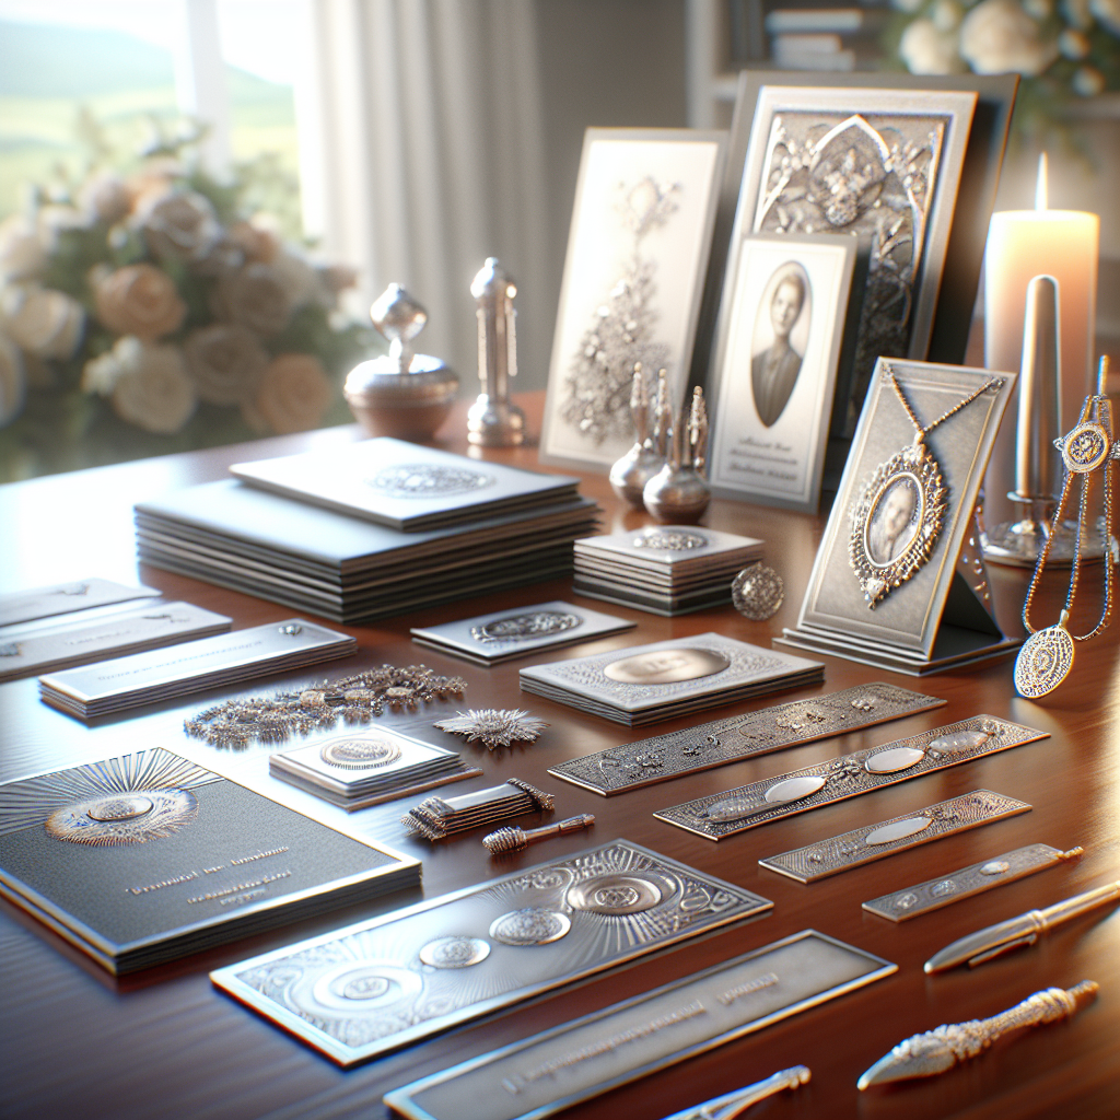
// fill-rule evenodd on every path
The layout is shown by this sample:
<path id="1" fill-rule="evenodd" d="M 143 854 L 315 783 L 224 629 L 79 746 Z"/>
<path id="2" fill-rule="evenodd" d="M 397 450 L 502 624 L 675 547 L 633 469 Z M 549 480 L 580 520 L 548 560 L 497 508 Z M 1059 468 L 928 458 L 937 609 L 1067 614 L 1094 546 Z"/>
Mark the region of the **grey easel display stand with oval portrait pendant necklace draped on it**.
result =
<path id="1" fill-rule="evenodd" d="M 781 645 L 923 675 L 1021 644 L 976 507 L 1015 374 L 879 358 L 797 625 Z"/>

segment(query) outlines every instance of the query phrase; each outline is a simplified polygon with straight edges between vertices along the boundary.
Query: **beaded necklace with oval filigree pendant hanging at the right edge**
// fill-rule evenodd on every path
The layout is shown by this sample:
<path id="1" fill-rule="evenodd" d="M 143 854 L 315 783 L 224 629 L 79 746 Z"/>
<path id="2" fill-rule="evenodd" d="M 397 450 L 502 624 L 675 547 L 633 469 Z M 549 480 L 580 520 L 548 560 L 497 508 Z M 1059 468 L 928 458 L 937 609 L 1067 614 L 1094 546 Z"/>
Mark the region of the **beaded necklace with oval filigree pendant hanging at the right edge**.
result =
<path id="1" fill-rule="evenodd" d="M 1015 688 L 1021 697 L 1035 700 L 1053 692 L 1068 675 L 1073 668 L 1073 643 L 1088 642 L 1096 637 L 1112 620 L 1112 461 L 1120 454 L 1120 445 L 1112 441 L 1112 403 L 1104 395 L 1104 382 L 1108 377 L 1109 360 L 1101 358 L 1096 381 L 1096 393 L 1085 398 L 1081 407 L 1081 417 L 1076 427 L 1067 436 L 1055 440 L 1062 451 L 1065 464 L 1065 483 L 1057 510 L 1054 511 L 1052 524 L 1060 525 L 1065 515 L 1066 501 L 1073 489 L 1074 476 L 1081 477 L 1081 501 L 1077 507 L 1077 540 L 1073 551 L 1073 567 L 1070 573 L 1070 590 L 1065 597 L 1065 606 L 1054 626 L 1036 631 L 1029 622 L 1030 604 L 1042 578 L 1043 569 L 1049 557 L 1053 533 L 1048 534 L 1038 553 L 1035 573 L 1027 588 L 1027 598 L 1023 604 L 1023 625 L 1030 637 L 1024 643 L 1018 657 L 1015 659 Z M 1101 469 L 1104 486 L 1104 605 L 1101 617 L 1088 634 L 1070 633 L 1070 613 L 1077 594 L 1077 580 L 1081 575 L 1081 542 L 1084 540 L 1085 521 L 1089 507 L 1089 476 Z"/>

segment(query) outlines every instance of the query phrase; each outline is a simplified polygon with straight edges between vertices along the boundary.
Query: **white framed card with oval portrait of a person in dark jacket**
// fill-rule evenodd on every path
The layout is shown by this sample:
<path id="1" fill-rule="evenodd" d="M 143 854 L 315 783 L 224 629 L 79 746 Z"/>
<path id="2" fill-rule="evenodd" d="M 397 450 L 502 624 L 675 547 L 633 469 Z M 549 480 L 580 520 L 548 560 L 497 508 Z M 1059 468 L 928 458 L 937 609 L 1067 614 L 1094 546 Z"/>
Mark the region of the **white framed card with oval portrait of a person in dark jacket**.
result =
<path id="1" fill-rule="evenodd" d="M 744 236 L 716 349 L 709 477 L 722 496 L 815 512 L 855 237 Z"/>

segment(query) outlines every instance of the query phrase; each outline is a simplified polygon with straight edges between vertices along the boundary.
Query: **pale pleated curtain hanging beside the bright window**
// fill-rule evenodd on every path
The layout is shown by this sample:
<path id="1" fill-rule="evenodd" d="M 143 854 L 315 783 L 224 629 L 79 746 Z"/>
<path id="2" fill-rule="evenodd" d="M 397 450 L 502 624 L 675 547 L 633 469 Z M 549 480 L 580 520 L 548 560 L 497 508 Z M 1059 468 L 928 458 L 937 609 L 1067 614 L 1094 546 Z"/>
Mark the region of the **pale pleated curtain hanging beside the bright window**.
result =
<path id="1" fill-rule="evenodd" d="M 519 281 L 519 339 L 534 364 L 547 363 L 556 314 L 532 282 L 547 268 L 534 12 L 523 0 L 307 7 L 305 222 L 332 259 L 362 270 L 365 306 L 398 281 L 428 308 L 420 348 L 472 392 L 469 284 L 486 256 Z"/>

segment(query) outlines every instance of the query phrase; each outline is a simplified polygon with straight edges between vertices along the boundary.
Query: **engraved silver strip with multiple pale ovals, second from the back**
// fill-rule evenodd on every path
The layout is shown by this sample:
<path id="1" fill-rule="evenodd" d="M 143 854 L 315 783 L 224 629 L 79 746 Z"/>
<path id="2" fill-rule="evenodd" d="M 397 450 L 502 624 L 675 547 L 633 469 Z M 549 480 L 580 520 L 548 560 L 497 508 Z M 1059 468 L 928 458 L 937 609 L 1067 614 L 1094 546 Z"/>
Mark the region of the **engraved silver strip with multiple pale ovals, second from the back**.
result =
<path id="1" fill-rule="evenodd" d="M 960 724 L 840 755 L 778 777 L 659 809 L 653 815 L 707 840 L 722 840 L 757 824 L 1045 738 L 1048 738 L 1046 731 L 993 716 L 973 716 Z"/>

